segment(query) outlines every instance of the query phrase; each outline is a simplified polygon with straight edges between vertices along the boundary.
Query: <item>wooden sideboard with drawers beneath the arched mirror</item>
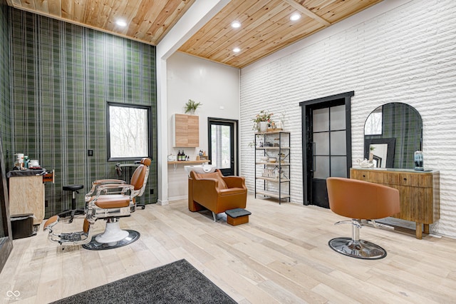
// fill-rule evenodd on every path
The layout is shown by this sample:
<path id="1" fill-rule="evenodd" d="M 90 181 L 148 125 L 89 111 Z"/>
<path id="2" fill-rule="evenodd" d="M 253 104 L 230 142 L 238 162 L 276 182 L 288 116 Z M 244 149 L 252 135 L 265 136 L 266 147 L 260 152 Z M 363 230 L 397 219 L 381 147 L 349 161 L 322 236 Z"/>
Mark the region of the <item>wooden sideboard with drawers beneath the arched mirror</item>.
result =
<path id="1" fill-rule="evenodd" d="M 401 169 L 351 168 L 350 177 L 396 188 L 400 213 L 393 216 L 416 223 L 416 238 L 429 233 L 429 224 L 440 218 L 440 173 Z"/>

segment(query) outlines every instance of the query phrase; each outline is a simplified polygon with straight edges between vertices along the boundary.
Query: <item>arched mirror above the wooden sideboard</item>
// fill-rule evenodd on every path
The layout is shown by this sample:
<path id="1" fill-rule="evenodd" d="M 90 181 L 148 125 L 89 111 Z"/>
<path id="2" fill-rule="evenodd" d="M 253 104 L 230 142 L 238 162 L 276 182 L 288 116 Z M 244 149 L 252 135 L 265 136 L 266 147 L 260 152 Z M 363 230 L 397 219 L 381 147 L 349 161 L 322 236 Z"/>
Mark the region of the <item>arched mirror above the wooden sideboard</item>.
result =
<path id="1" fill-rule="evenodd" d="M 364 123 L 364 157 L 377 168 L 412 169 L 423 146 L 423 120 L 413 106 L 385 103 Z"/>

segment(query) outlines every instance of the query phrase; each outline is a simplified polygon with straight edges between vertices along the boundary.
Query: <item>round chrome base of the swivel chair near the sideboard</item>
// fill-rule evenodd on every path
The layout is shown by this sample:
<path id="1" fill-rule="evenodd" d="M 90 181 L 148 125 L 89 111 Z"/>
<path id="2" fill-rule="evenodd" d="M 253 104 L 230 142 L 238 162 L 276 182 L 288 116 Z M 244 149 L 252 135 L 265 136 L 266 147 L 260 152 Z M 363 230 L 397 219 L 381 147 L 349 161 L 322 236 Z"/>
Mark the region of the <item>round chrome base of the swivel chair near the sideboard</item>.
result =
<path id="1" fill-rule="evenodd" d="M 333 238 L 328 242 L 329 247 L 338 253 L 361 258 L 364 260 L 378 260 L 385 258 L 386 250 L 367 240 L 353 240 L 353 238 Z"/>

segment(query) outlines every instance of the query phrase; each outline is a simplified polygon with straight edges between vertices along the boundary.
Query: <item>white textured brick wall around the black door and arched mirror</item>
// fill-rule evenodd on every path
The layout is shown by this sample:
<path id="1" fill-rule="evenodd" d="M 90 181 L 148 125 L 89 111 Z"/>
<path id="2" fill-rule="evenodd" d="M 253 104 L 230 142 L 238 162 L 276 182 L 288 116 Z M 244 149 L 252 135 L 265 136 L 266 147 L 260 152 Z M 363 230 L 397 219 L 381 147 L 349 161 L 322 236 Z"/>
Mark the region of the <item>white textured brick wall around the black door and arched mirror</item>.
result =
<path id="1" fill-rule="evenodd" d="M 299 102 L 355 91 L 353 160 L 363 157 L 368 114 L 383 103 L 408 103 L 423 118 L 425 168 L 440 171 L 440 221 L 431 230 L 456 238 L 455 18 L 456 1 L 410 1 L 303 44 L 292 54 L 243 69 L 241 171 L 247 186 L 254 188 L 254 153 L 248 143 L 254 140 L 252 118 L 261 109 L 286 113 L 292 138 L 291 199 L 302 203 Z"/>

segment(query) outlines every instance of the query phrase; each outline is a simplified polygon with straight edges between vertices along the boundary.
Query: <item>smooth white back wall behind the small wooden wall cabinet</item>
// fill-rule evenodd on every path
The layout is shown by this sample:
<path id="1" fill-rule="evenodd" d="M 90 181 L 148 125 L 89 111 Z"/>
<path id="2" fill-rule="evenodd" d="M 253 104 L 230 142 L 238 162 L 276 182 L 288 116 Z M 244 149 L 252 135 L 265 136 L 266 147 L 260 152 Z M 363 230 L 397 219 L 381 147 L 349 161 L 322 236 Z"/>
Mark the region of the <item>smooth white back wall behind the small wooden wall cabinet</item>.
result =
<path id="1" fill-rule="evenodd" d="M 202 103 L 199 116 L 199 148 L 207 151 L 207 118 L 239 120 L 239 69 L 175 53 L 167 60 L 167 154 L 177 154 L 182 148 L 172 147 L 172 114 L 185 113 L 185 103 L 192 99 Z M 198 148 L 185 148 L 195 159 Z M 187 174 L 184 166 L 168 165 L 169 200 L 187 197 Z"/>

